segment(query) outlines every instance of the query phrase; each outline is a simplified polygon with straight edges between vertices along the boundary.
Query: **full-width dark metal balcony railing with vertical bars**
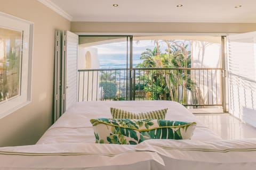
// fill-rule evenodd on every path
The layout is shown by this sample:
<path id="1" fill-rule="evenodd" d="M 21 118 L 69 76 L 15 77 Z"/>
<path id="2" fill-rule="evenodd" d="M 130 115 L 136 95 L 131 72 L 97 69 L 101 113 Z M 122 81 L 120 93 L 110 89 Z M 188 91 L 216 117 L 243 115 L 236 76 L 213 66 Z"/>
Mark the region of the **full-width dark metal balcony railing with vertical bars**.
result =
<path id="1" fill-rule="evenodd" d="M 134 68 L 78 70 L 78 101 L 172 100 L 221 106 L 221 69 Z"/>

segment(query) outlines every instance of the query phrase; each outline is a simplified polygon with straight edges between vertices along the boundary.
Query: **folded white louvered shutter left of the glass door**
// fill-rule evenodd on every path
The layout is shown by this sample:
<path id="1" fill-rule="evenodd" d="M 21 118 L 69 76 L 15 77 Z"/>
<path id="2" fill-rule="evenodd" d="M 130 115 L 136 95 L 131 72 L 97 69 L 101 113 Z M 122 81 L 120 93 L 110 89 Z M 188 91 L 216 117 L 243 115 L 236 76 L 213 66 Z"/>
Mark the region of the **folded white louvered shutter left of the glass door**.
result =
<path id="1" fill-rule="evenodd" d="M 62 47 L 62 75 L 64 74 L 64 76 L 62 76 L 62 109 L 63 112 L 65 112 L 73 103 L 77 102 L 78 35 L 64 31 Z"/>

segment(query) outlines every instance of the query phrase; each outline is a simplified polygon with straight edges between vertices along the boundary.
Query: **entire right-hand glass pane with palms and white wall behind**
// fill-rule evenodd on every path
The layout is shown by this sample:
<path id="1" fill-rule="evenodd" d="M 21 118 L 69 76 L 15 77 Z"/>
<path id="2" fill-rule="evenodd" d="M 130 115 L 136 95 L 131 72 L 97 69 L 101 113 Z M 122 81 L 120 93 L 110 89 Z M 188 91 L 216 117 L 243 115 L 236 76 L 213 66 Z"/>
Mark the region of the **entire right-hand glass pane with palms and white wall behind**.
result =
<path id="1" fill-rule="evenodd" d="M 135 100 L 221 105 L 219 36 L 133 36 L 133 40 Z"/>

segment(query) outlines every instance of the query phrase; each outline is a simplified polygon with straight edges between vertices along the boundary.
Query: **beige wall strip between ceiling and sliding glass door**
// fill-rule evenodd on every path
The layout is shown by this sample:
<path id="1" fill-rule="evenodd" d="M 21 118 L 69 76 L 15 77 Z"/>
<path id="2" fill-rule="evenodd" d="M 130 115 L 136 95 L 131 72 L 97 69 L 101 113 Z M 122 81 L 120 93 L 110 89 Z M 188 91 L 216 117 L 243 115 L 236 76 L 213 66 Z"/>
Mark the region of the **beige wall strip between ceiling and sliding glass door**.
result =
<path id="1" fill-rule="evenodd" d="M 71 22 L 72 32 L 241 33 L 255 30 L 256 23 Z"/>

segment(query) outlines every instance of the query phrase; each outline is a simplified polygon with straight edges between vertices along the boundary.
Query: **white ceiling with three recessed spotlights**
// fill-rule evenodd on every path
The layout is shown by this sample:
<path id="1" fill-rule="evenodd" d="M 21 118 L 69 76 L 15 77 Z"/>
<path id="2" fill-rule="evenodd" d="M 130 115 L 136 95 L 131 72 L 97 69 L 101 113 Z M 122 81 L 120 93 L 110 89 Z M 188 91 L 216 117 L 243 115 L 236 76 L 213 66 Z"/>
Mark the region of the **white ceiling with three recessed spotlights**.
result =
<path id="1" fill-rule="evenodd" d="M 256 23 L 256 0 L 38 1 L 70 21 Z M 242 7 L 235 8 L 238 5 Z"/>

